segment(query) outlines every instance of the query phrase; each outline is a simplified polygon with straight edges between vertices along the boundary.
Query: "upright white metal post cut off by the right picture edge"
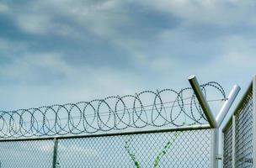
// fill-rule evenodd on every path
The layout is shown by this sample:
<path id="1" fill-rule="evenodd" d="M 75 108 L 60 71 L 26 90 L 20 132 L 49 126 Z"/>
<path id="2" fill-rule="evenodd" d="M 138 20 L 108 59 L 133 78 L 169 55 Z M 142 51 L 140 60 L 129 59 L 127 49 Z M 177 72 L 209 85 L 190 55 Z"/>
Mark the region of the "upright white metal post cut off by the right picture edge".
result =
<path id="1" fill-rule="evenodd" d="M 256 168 L 256 76 L 253 76 L 253 168 Z"/>

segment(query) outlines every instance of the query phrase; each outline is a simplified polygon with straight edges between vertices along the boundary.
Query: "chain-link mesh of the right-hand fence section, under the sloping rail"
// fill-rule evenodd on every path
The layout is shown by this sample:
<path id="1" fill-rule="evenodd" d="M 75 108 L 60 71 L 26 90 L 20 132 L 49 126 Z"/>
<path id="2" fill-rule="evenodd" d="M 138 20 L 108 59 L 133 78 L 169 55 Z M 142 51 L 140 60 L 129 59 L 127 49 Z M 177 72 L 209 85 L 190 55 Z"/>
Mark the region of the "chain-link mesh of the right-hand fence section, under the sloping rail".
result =
<path id="1" fill-rule="evenodd" d="M 232 124 L 224 130 L 223 167 L 232 167 L 232 153 L 235 153 L 235 167 L 253 167 L 253 92 L 243 98 L 235 113 L 235 151 L 232 151 Z"/>

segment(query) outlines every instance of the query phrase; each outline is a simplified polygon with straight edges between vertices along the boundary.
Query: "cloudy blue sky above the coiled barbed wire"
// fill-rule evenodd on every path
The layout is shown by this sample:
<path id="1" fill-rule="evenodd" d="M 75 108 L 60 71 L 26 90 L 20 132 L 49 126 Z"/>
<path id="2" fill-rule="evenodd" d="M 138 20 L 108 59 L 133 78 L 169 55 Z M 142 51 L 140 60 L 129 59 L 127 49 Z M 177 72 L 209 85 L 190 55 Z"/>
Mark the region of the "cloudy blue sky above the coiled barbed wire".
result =
<path id="1" fill-rule="evenodd" d="M 187 77 L 248 86 L 255 1 L 0 2 L 2 110 L 87 101 Z"/>

